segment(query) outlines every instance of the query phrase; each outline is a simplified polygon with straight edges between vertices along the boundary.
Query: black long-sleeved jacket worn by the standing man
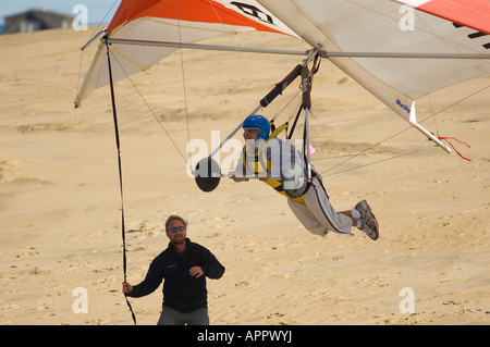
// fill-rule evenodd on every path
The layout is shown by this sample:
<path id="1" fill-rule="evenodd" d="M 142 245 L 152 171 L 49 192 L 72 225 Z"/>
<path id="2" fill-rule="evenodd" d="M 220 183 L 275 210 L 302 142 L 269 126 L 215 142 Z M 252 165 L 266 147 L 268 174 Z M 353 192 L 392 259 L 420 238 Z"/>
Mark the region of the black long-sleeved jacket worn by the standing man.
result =
<path id="1" fill-rule="evenodd" d="M 135 285 L 127 294 L 139 298 L 155 292 L 162 280 L 163 307 L 181 312 L 191 312 L 208 307 L 206 277 L 218 280 L 224 273 L 224 267 L 205 247 L 186 238 L 182 252 L 176 252 L 172 244 L 151 262 L 145 280 Z M 200 267 L 204 275 L 196 278 L 188 273 L 193 267 Z"/>

